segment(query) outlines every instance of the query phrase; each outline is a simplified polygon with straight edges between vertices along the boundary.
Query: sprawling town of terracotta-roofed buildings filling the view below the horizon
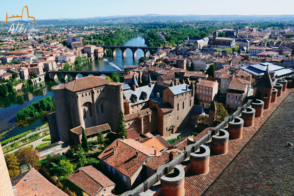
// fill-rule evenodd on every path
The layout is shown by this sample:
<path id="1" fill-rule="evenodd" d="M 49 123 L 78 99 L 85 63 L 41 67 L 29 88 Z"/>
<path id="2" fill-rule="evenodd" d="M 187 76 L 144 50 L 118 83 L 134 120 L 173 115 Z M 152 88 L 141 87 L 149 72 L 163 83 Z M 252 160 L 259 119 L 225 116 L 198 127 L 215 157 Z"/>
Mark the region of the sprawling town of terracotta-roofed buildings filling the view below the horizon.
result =
<path id="1" fill-rule="evenodd" d="M 45 81 L 56 85 L 52 98 L 16 114 L 17 121 L 44 114 L 47 128 L 1 140 L 0 195 L 250 195 L 248 187 L 234 189 L 242 179 L 268 183 L 267 153 L 281 162 L 271 177 L 293 177 L 286 168 L 293 166 L 294 27 L 240 23 L 181 40 L 138 24 L 1 29 L 1 98 Z M 137 36 L 146 46 L 121 41 Z M 127 51 L 136 63 L 112 59 Z M 111 69 L 80 69 L 98 60 Z M 264 147 L 271 142 L 284 148 Z M 256 171 L 246 168 L 251 162 Z M 253 189 L 293 194 L 273 184 Z"/>

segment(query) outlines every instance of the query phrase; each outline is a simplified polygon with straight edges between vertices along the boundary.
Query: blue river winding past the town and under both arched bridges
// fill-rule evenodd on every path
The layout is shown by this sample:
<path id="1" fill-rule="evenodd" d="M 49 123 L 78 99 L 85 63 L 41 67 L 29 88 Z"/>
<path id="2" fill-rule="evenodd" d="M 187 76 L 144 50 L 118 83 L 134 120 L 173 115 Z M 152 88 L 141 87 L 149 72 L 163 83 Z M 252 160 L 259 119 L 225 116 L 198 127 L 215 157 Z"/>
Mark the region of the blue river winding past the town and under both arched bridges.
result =
<path id="1" fill-rule="evenodd" d="M 124 46 L 147 45 L 145 44 L 144 38 L 138 36 L 127 41 Z M 132 51 L 127 49 L 126 56 L 123 58 L 121 50 L 117 49 L 116 56 L 107 56 L 107 58 L 124 67 L 124 65 L 137 64 L 139 58 L 143 56 L 144 53 L 139 49 L 137 50 L 136 59 L 133 59 L 132 55 Z M 107 65 L 103 60 L 92 60 L 77 70 L 117 71 L 116 69 Z M 48 96 L 53 97 L 51 87 L 57 84 L 61 84 L 61 81 L 45 81 L 41 84 L 25 89 L 24 91 L 18 91 L 17 94 L 9 95 L 7 97 L 0 97 L 0 141 L 6 140 L 10 137 L 24 133 L 47 123 L 46 114 L 40 115 L 22 123 L 16 122 L 15 115 L 22 108 L 25 108 L 27 105 L 36 102 L 39 99 Z"/>

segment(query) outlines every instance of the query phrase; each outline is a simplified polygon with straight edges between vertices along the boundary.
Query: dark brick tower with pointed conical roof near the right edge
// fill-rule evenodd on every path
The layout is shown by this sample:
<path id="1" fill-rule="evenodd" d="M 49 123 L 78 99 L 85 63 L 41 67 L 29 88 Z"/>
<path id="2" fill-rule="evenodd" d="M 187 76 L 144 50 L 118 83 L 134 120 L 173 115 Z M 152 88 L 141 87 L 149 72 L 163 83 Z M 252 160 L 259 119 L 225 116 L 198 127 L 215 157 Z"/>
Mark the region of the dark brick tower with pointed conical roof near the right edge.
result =
<path id="1" fill-rule="evenodd" d="M 273 86 L 274 85 L 270 77 L 268 63 L 267 71 L 258 82 L 256 91 L 257 99 L 261 99 L 265 102 L 264 109 L 270 109 L 271 93 Z"/>

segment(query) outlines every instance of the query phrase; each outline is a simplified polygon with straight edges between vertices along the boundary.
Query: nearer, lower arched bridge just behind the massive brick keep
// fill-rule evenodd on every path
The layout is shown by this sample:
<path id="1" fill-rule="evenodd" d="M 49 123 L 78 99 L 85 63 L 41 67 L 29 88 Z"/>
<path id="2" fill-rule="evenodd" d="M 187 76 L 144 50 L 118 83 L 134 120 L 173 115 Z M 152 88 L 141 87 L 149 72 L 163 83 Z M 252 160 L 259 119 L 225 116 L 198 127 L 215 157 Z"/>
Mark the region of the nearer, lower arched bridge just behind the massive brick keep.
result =
<path id="1" fill-rule="evenodd" d="M 73 80 L 77 78 L 78 74 L 81 74 L 83 77 L 87 77 L 89 75 L 93 76 L 101 76 L 102 74 L 105 76 L 111 77 L 113 72 L 118 72 L 123 74 L 124 71 L 48 71 L 46 72 L 46 78 L 50 80 L 55 80 L 58 76 L 61 77 L 61 80 L 67 80 L 67 75 L 71 75 Z"/>

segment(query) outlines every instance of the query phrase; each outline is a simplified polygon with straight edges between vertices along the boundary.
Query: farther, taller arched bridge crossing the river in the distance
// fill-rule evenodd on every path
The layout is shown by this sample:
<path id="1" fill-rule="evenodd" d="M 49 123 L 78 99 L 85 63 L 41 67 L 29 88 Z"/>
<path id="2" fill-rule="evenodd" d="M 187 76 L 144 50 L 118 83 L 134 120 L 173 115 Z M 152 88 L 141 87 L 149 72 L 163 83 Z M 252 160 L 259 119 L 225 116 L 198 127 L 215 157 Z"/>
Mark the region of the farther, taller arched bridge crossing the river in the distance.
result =
<path id="1" fill-rule="evenodd" d="M 133 58 L 136 58 L 137 54 L 137 50 L 141 49 L 144 52 L 144 56 L 147 57 L 147 53 L 149 50 L 158 50 L 160 47 L 145 47 L 145 46 L 100 46 L 103 47 L 104 50 L 104 54 L 106 52 L 106 49 L 110 49 L 112 52 L 112 56 L 116 55 L 116 49 L 121 49 L 122 51 L 122 56 L 125 56 L 125 51 L 126 49 L 131 49 L 131 51 L 133 52 Z"/>

